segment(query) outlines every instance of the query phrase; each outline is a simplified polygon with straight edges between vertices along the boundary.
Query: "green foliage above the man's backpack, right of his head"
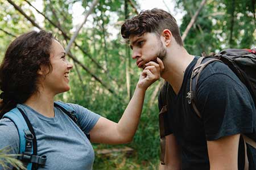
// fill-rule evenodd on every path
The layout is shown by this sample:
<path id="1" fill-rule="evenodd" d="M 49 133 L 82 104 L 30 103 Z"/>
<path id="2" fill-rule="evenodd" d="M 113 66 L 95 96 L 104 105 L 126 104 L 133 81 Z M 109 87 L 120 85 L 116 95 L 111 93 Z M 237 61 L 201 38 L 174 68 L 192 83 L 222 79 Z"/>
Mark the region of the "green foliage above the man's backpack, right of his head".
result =
<path id="1" fill-rule="evenodd" d="M 180 0 L 177 6 L 187 11 L 180 27 L 182 33 L 200 1 Z M 189 53 L 200 55 L 224 48 L 255 47 L 255 6 L 253 1 L 208 1 L 184 41 L 185 48 Z"/>

